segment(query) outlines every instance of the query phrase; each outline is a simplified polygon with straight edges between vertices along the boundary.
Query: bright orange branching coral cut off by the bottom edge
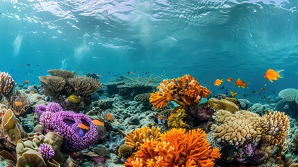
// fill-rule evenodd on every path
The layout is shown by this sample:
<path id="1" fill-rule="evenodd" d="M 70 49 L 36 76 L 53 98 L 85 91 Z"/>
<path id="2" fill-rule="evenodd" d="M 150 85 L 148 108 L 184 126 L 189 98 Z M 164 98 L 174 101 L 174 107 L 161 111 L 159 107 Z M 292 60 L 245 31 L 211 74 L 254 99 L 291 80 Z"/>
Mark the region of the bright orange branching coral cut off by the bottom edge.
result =
<path id="1" fill-rule="evenodd" d="M 135 157 L 124 166 L 184 166 L 211 167 L 220 158 L 220 150 L 211 148 L 206 133 L 201 129 L 171 129 L 161 134 L 160 141 L 154 138 L 143 140 Z"/>

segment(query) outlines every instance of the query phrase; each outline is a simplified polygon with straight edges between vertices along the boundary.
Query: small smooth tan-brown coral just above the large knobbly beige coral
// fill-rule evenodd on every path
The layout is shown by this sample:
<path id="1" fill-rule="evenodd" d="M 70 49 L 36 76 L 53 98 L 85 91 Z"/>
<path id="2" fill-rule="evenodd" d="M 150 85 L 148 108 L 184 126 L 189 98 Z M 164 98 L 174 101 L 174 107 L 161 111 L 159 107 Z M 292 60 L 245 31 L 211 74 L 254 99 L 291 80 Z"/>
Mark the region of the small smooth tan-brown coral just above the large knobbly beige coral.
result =
<path id="1" fill-rule="evenodd" d="M 217 100 L 215 98 L 212 98 L 207 101 L 207 104 L 211 109 L 215 111 L 219 111 L 223 109 L 226 111 L 230 111 L 231 113 L 235 113 L 236 111 L 239 110 L 238 106 L 235 103 L 230 102 L 226 99 Z"/>

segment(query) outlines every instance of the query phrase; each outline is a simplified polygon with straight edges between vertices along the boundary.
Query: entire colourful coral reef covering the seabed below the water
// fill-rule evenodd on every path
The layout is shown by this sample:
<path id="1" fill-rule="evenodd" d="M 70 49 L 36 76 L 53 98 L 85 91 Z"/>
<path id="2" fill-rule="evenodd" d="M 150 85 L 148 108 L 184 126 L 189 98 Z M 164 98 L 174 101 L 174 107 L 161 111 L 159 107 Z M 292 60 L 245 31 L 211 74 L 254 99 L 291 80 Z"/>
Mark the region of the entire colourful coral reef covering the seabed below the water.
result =
<path id="1" fill-rule="evenodd" d="M 48 72 L 24 88 L 0 73 L 0 166 L 297 166 L 296 89 L 260 104 L 189 74 Z"/>

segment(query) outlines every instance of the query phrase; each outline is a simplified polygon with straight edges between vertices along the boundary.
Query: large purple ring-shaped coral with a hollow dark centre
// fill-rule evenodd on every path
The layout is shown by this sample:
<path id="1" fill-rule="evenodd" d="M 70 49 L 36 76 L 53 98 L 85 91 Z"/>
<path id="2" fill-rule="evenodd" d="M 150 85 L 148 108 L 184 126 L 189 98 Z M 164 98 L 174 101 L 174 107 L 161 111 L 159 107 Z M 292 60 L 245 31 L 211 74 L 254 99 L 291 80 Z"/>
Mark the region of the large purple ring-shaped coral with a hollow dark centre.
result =
<path id="1" fill-rule="evenodd" d="M 97 141 L 97 126 L 94 125 L 83 113 L 73 111 L 60 111 L 52 113 L 50 119 L 51 129 L 63 136 L 62 152 L 74 152 L 89 148 Z M 81 129 L 79 124 L 83 124 L 89 129 Z"/>

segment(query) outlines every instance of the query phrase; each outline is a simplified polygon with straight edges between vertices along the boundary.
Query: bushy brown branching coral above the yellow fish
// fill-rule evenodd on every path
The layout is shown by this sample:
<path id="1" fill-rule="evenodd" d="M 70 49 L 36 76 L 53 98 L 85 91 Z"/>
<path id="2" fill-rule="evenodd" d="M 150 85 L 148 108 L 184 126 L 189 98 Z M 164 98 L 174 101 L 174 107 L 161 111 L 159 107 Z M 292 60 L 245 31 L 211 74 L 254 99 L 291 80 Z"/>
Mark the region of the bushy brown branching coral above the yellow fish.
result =
<path id="1" fill-rule="evenodd" d="M 67 80 L 65 90 L 73 95 L 91 95 L 101 88 L 99 79 L 92 77 L 74 77 Z"/>

